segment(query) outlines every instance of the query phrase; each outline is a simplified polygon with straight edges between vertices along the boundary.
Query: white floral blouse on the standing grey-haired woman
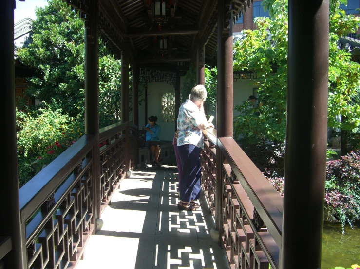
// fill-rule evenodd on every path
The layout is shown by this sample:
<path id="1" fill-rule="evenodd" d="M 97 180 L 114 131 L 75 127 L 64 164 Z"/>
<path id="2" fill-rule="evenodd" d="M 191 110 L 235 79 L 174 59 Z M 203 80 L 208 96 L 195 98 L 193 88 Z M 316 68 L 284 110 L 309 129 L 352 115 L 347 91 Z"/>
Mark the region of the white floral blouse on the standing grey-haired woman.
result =
<path id="1" fill-rule="evenodd" d="M 192 144 L 203 149 L 203 134 L 197 126 L 204 121 L 206 121 L 205 115 L 200 112 L 196 104 L 187 99 L 180 106 L 179 116 L 177 118 L 177 130 L 179 131 L 177 146 Z"/>

